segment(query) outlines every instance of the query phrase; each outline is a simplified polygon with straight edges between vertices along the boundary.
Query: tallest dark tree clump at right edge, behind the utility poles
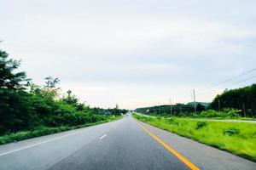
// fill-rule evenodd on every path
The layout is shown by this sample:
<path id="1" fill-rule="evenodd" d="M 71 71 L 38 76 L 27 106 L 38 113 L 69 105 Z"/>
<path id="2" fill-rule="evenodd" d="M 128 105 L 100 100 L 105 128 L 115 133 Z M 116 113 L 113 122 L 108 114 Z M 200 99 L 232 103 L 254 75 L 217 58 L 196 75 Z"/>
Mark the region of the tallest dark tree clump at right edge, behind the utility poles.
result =
<path id="1" fill-rule="evenodd" d="M 210 106 L 218 111 L 219 107 L 240 110 L 241 116 L 256 116 L 256 84 L 245 88 L 225 90 L 213 99 Z"/>

